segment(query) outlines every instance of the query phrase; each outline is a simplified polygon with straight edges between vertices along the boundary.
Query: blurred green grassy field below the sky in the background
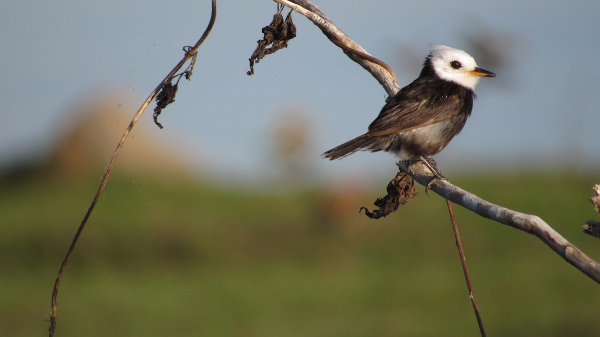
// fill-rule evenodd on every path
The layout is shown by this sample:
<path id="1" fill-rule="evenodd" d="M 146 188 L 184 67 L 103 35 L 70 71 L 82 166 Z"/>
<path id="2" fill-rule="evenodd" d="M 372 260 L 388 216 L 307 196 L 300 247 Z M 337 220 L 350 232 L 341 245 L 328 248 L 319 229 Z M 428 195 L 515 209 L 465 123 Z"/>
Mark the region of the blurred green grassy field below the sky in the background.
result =
<path id="1" fill-rule="evenodd" d="M 533 213 L 595 260 L 599 177 L 452 177 Z M 157 182 L 158 180 L 158 182 Z M 44 336 L 50 294 L 97 180 L 0 183 L 0 331 Z M 386 219 L 385 194 L 282 192 L 116 176 L 58 296 L 56 336 L 478 336 L 445 201 L 419 195 Z M 600 288 L 535 237 L 456 206 L 490 336 L 598 336 Z"/>

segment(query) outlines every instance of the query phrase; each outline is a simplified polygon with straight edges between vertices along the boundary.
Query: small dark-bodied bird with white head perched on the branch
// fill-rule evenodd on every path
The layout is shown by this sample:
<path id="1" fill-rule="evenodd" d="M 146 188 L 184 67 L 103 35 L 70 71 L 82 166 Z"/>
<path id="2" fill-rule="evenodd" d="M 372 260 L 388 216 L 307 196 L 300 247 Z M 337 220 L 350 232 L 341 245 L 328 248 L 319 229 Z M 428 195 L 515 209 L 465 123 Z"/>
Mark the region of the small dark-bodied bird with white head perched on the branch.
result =
<path id="1" fill-rule="evenodd" d="M 405 161 L 438 154 L 463 129 L 473 109 L 481 77 L 496 77 L 479 68 L 468 53 L 433 46 L 419 77 L 388 99 L 367 133 L 343 143 L 322 157 L 341 159 L 356 151 L 385 151 Z"/>

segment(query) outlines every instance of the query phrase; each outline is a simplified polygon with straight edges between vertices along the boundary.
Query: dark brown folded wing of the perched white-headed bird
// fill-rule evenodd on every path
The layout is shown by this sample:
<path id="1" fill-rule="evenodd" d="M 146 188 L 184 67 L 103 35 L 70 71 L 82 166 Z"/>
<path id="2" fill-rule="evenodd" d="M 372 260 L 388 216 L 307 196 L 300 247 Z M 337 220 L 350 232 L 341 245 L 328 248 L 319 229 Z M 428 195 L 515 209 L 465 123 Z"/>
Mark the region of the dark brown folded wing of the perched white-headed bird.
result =
<path id="1" fill-rule="evenodd" d="M 446 91 L 417 81 L 404 87 L 369 125 L 370 136 L 385 136 L 446 121 L 465 103 L 461 92 Z M 470 111 L 469 111 L 470 113 Z"/>

